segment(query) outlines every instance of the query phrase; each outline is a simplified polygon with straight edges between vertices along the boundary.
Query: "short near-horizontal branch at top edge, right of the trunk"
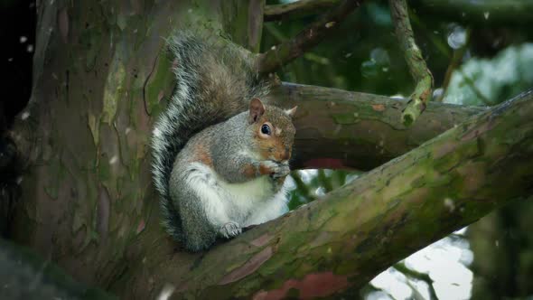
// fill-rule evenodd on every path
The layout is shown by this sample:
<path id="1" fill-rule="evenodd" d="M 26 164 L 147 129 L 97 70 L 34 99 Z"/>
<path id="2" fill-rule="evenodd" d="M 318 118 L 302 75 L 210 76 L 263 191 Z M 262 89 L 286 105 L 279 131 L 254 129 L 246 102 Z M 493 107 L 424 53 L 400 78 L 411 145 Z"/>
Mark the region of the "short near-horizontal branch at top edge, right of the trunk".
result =
<path id="1" fill-rule="evenodd" d="M 300 0 L 285 5 L 266 5 L 265 21 L 276 21 L 295 16 L 321 14 L 325 9 L 338 5 L 340 0 Z"/>

